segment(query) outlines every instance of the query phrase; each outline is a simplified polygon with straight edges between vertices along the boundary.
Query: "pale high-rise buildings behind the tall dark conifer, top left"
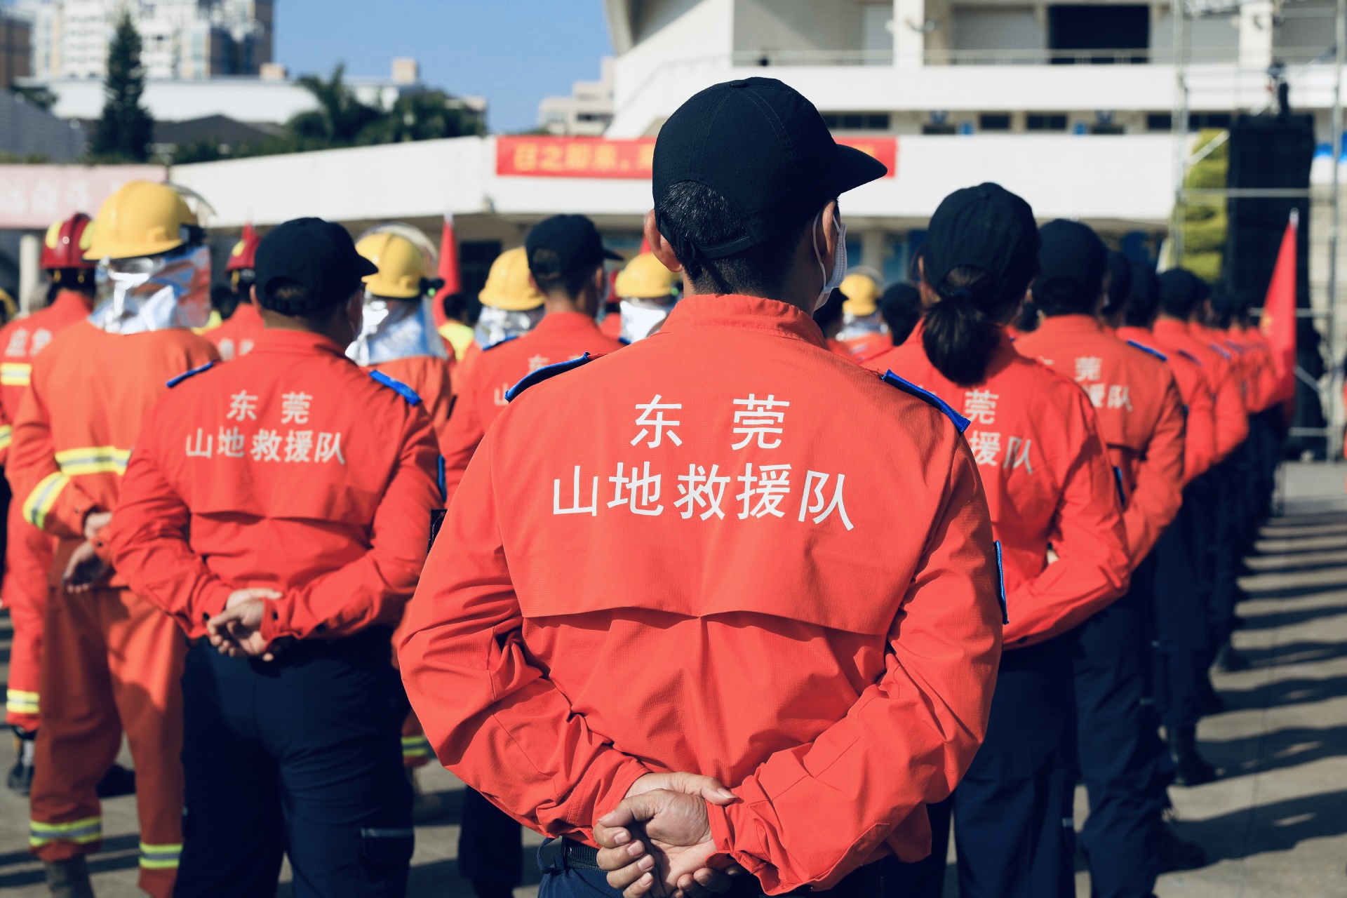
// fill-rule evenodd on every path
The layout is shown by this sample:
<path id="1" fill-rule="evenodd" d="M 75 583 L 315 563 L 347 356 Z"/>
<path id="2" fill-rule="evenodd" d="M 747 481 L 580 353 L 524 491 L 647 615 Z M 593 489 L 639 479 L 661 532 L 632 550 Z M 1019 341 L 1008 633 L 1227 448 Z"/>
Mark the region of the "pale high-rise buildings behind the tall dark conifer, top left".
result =
<path id="1" fill-rule="evenodd" d="M 150 78 L 256 75 L 272 59 L 273 0 L 18 0 L 13 13 L 32 23 L 34 78 L 101 79 L 123 9 Z"/>

